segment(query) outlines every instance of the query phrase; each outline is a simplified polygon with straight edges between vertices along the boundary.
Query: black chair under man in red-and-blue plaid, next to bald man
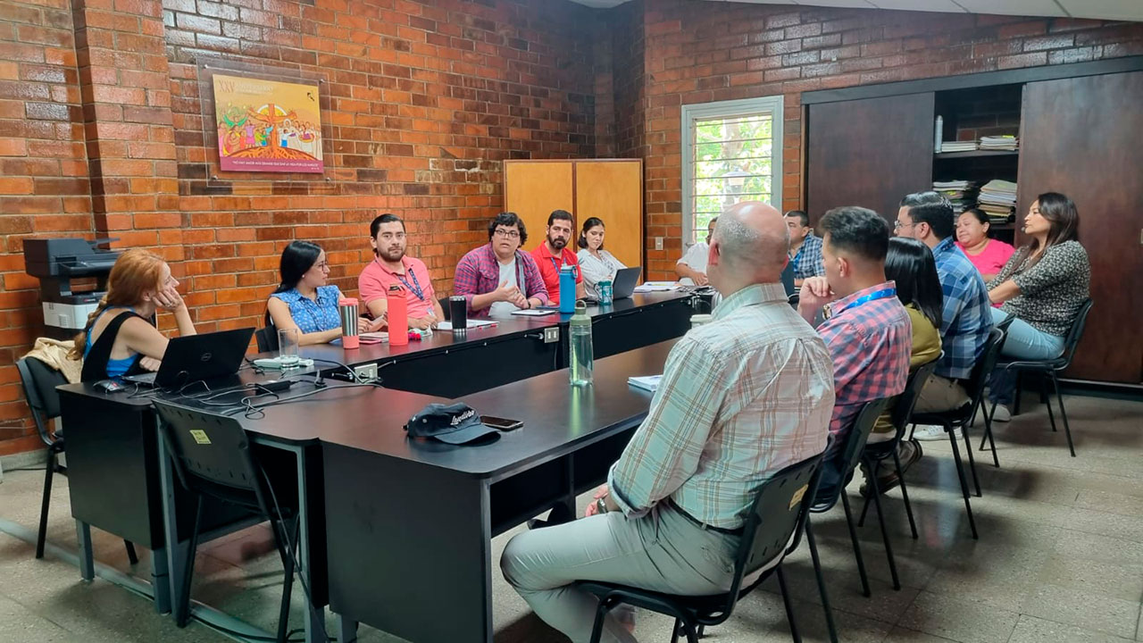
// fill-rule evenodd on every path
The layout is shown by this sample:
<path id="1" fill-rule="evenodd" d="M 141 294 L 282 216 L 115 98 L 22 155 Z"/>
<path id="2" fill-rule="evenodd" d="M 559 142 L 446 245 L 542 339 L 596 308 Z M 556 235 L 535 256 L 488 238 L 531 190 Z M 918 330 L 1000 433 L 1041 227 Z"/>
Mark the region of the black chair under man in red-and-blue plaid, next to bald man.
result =
<path id="1" fill-rule="evenodd" d="M 866 402 L 861 411 L 857 412 L 849 432 L 846 434 L 845 442 L 841 443 L 840 452 L 833 457 L 832 462 L 823 463 L 823 468 L 830 466 L 840 468 L 841 477 L 838 478 L 838 486 L 836 490 L 830 490 L 829 495 L 824 499 L 818 493 L 818 497 L 814 498 L 815 505 L 809 508 L 810 514 L 824 514 L 838 503 L 838 499 L 841 500 L 841 507 L 846 511 L 846 526 L 849 527 L 849 540 L 854 546 L 854 558 L 857 559 L 857 574 L 861 577 L 862 594 L 866 597 L 872 593 L 869 589 L 869 577 L 865 575 L 865 562 L 862 559 L 861 543 L 857 541 L 857 530 L 854 529 L 854 516 L 853 510 L 849 508 L 846 484 L 853 478 L 854 469 L 857 468 L 857 463 L 861 461 L 862 453 L 865 450 L 865 442 L 869 439 L 869 434 L 873 431 L 877 418 L 888 405 L 888 399 L 874 399 Z M 877 493 L 876 478 L 871 481 L 871 486 L 873 493 Z M 878 505 L 878 513 L 880 514 L 880 511 L 881 508 Z M 885 535 L 884 526 L 881 533 Z M 830 641 L 837 643 L 838 628 L 833 624 L 833 608 L 830 606 L 830 596 L 825 590 L 825 579 L 822 577 L 822 561 L 817 555 L 817 541 L 814 540 L 813 521 L 808 516 L 806 517 L 806 541 L 809 543 L 809 557 L 814 562 L 814 575 L 817 578 L 817 592 L 822 596 L 822 609 L 825 610 L 825 627 L 830 632 Z M 893 563 L 893 553 L 888 535 L 885 537 L 885 549 L 889 553 L 889 571 L 893 573 L 894 588 L 900 589 L 901 584 L 897 581 L 897 569 Z"/>

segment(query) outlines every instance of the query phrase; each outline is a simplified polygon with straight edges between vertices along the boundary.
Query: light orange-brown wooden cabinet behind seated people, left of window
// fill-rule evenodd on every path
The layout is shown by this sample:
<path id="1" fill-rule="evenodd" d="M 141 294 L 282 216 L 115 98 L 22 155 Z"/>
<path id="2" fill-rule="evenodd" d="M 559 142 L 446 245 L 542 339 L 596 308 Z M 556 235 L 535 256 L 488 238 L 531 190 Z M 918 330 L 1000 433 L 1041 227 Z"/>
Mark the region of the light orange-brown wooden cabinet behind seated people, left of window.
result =
<path id="1" fill-rule="evenodd" d="M 543 243 L 547 215 L 566 209 L 576 225 L 569 245 L 583 222 L 598 216 L 607 228 L 605 247 L 625 265 L 642 265 L 642 195 L 640 159 L 504 161 L 504 209 L 527 225 L 526 251 Z"/>

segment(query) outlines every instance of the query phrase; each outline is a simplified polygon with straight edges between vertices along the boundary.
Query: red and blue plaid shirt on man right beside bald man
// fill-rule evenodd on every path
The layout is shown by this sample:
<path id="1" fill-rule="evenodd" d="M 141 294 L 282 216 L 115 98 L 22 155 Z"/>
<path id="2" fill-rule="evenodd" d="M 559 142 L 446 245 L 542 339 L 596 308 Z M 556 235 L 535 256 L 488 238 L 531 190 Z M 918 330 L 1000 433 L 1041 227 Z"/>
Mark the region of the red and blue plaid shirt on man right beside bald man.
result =
<path id="1" fill-rule="evenodd" d="M 909 379 L 909 356 L 913 326 L 896 296 L 876 299 L 846 308 L 858 299 L 892 288 L 886 281 L 841 297 L 830 304 L 834 315 L 817 332 L 833 356 L 833 390 L 837 400 L 830 432 L 841 447 L 842 431 L 849 429 L 862 404 L 901 395 Z"/>

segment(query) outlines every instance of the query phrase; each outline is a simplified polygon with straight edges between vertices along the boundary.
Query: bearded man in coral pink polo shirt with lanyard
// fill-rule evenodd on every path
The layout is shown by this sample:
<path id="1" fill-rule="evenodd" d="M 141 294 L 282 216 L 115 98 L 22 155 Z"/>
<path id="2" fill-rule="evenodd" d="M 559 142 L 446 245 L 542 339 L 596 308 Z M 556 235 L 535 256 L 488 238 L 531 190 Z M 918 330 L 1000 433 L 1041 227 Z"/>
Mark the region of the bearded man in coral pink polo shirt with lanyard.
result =
<path id="1" fill-rule="evenodd" d="M 369 224 L 369 244 L 377 256 L 358 277 L 358 291 L 373 318 L 381 319 L 385 315 L 389 305 L 385 296 L 389 288 L 397 284 L 405 292 L 409 304 L 409 327 L 435 327 L 445 318 L 445 312 L 437 301 L 424 262 L 405 256 L 405 222 L 395 214 L 383 214 L 374 219 Z"/>

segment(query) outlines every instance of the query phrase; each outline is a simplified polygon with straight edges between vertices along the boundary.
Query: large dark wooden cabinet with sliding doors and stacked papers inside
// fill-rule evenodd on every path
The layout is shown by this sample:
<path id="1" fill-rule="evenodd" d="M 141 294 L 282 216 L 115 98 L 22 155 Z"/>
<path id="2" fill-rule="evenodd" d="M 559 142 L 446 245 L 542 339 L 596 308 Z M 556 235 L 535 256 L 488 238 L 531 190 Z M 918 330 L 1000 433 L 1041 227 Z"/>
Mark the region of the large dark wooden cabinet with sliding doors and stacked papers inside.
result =
<path id="1" fill-rule="evenodd" d="M 893 221 L 900 199 L 934 180 L 1015 180 L 1016 221 L 993 236 L 1018 245 L 1037 195 L 1071 197 L 1095 305 L 1066 375 L 1143 382 L 1143 57 L 807 92 L 801 102 L 812 221 L 841 205 Z M 1018 153 L 934 153 L 938 114 L 945 141 L 1018 127 Z"/>

